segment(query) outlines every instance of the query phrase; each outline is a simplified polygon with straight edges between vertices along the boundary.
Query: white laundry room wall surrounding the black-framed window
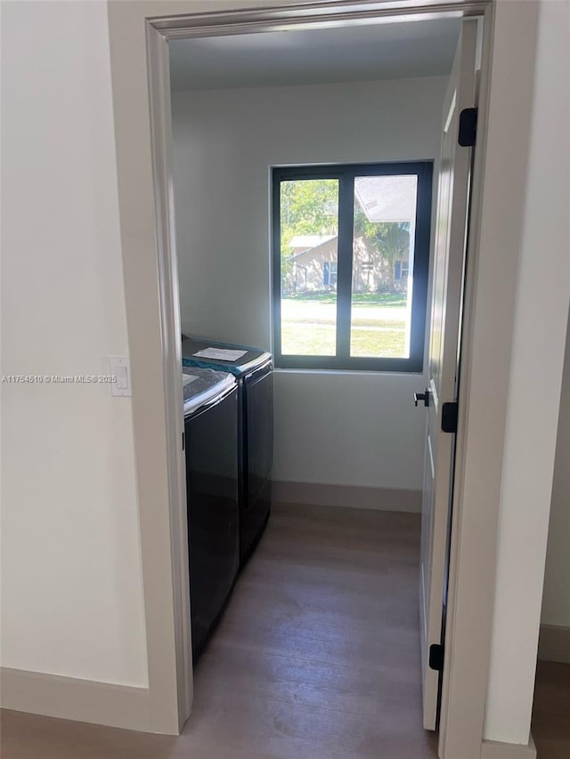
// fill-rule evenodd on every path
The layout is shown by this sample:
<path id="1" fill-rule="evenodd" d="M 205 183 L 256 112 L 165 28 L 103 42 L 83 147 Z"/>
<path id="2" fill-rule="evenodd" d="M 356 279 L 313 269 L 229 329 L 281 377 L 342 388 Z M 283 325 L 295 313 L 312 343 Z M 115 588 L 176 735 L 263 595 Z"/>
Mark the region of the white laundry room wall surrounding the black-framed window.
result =
<path id="1" fill-rule="evenodd" d="M 445 77 L 173 93 L 183 329 L 271 343 L 269 167 L 436 158 Z M 275 480 L 420 489 L 422 375 L 279 371 Z"/>

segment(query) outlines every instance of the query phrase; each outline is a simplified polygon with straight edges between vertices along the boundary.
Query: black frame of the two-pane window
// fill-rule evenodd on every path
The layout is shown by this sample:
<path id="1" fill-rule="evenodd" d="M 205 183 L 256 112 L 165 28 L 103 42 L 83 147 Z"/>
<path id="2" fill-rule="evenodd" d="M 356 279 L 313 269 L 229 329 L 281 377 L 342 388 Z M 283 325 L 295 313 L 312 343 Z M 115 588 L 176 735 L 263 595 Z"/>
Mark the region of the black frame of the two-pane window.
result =
<path id="1" fill-rule="evenodd" d="M 276 368 L 338 369 L 349 371 L 420 374 L 424 367 L 428 308 L 429 248 L 432 214 L 433 160 L 273 166 L 272 259 L 273 259 L 273 353 Z M 411 301 L 410 357 L 372 358 L 350 355 L 352 310 L 354 178 L 361 176 L 411 175 L 418 177 L 414 238 L 413 292 Z M 281 182 L 292 180 L 338 180 L 337 253 L 337 355 L 302 356 L 281 353 Z"/>

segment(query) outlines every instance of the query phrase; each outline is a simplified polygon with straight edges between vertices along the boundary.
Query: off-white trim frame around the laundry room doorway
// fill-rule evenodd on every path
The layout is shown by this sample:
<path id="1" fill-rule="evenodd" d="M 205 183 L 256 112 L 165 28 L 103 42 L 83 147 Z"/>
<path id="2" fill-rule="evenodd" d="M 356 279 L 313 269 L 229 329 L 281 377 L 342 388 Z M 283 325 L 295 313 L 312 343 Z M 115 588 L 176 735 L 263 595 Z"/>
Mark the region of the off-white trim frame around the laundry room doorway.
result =
<path id="1" fill-rule="evenodd" d="M 491 53 L 493 48 L 495 8 L 492 0 L 467 2 L 432 2 L 431 0 L 333 0 L 305 2 L 260 8 L 258 5 L 239 11 L 195 13 L 192 0 L 182 2 L 121 3 L 110 0 L 110 59 L 118 149 L 118 190 L 121 212 L 126 279 L 126 314 L 129 348 L 134 381 L 134 441 L 136 476 L 139 494 L 142 542 L 142 575 L 149 658 L 151 723 L 154 730 L 180 730 L 191 710 L 191 661 L 188 650 L 190 617 L 184 605 L 183 577 L 187 573 L 188 547 L 179 539 L 186 523 L 183 489 L 182 449 L 179 446 L 180 419 L 173 399 L 180 397 L 180 354 L 177 336 L 180 316 L 177 305 L 174 208 L 172 202 L 171 125 L 168 91 L 167 43 L 190 36 L 212 36 L 260 32 L 270 28 L 290 28 L 312 24 L 344 25 L 360 20 L 411 20 L 445 17 L 483 16 L 485 19 L 483 71 L 479 97 L 479 129 L 473 175 L 472 222 L 469 233 L 470 263 L 468 296 L 465 304 L 463 342 L 463 396 L 460 401 L 457 477 L 455 486 L 455 520 L 452 528 L 450 579 L 453 595 L 448 611 L 449 642 L 444 667 L 444 698 L 440 730 L 440 755 L 451 757 L 452 747 L 461 745 L 461 755 L 479 759 L 483 746 L 485 700 L 487 694 L 490 639 L 493 622 L 495 578 L 495 532 L 498 520 L 499 493 L 480 519 L 485 521 L 485 587 L 470 599 L 476 609 L 479 629 L 465 624 L 464 610 L 453 599 L 463 597 L 474 586 L 481 589 L 481 565 L 472 551 L 465 551 L 469 535 L 460 525 L 473 519 L 474 486 L 466 481 L 464 470 L 469 451 L 471 415 L 468 414 L 468 376 L 471 363 L 472 327 L 475 319 L 476 279 L 478 271 L 478 228 L 482 211 L 482 188 L 485 167 L 485 125 L 490 93 Z M 122 7 L 121 7 L 122 6 Z M 130 7 L 129 7 L 130 6 Z M 162 6 L 162 7 L 161 7 Z M 186 12 L 188 9 L 189 12 Z M 154 14 L 151 11 L 154 10 Z M 163 12 L 163 15 L 160 13 Z M 167 12 L 170 15 L 167 15 Z M 145 43 L 141 28 L 144 20 Z M 136 21 L 136 23 L 134 23 Z M 136 47 L 136 61 L 121 61 L 125 45 Z M 138 67 L 138 68 L 137 68 Z M 142 93 L 139 72 L 148 76 L 148 92 Z M 145 98 L 148 98 L 146 100 Z M 144 101 L 143 101 L 144 100 Z M 143 124 L 146 109 L 150 125 Z M 147 120 L 146 124 L 149 124 Z M 147 128 L 150 131 L 147 131 Z M 137 130 L 141 135 L 135 134 Z M 151 156 L 148 147 L 151 145 Z M 146 162 L 146 163 L 145 163 Z M 147 187 L 151 166 L 152 182 Z M 137 182 L 139 184 L 137 185 Z M 142 184 L 141 184 L 142 182 Z M 141 202 L 132 198 L 142 193 Z M 138 196 L 137 200 L 139 199 Z M 135 206 L 135 207 L 134 207 Z M 146 212 L 154 208 L 147 218 Z M 142 213 L 143 212 L 143 213 Z M 143 268 L 141 272 L 140 268 Z M 477 399 L 479 402 L 479 399 Z M 471 404 L 475 408 L 475 404 Z M 473 409 L 470 409 L 473 411 Z M 504 416 L 504 415 L 503 415 Z M 153 440 L 149 434 L 158 433 Z M 493 450 L 502 456 L 501 424 Z M 157 427 L 158 424 L 158 427 Z M 504 426 L 504 425 L 503 425 Z M 156 432 L 156 430 L 154 430 Z M 161 453 L 162 451 L 162 453 Z M 166 453 L 165 453 L 166 452 Z M 152 456 L 159 455 L 157 458 Z M 498 462 L 501 467 L 501 460 Z M 150 467 L 150 469 L 149 469 Z M 153 478 L 151 480 L 151 478 Z M 159 480 L 159 488 L 154 487 Z M 152 486 L 152 487 L 151 487 Z M 468 496 L 470 498 L 468 498 Z M 495 497 L 496 496 L 496 497 Z M 475 499 L 476 501 L 476 499 Z M 159 508 L 157 507 L 159 504 Z M 469 513 L 464 512 L 468 505 Z M 186 593 L 187 594 L 187 593 Z M 471 615 L 472 616 L 472 615 Z M 451 632 L 450 632 L 451 631 Z M 460 649 L 455 644 L 461 642 Z M 462 659 L 476 661 L 481 677 L 468 682 L 460 675 Z M 165 667 L 166 663 L 166 667 Z M 454 701 L 450 698 L 453 694 Z M 468 700 L 469 714 L 455 715 L 454 703 Z"/>

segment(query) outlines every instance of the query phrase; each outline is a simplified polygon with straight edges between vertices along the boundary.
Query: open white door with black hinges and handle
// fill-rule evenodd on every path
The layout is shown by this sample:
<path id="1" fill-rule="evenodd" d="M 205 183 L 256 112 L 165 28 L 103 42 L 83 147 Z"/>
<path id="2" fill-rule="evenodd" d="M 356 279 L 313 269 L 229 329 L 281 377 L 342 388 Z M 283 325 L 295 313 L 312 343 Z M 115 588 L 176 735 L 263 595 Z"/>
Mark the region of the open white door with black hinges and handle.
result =
<path id="1" fill-rule="evenodd" d="M 421 517 L 419 616 L 423 721 L 436 729 L 439 672 L 429 665 L 430 647 L 442 642 L 447 531 L 451 508 L 455 435 L 442 430 L 444 403 L 456 399 L 463 263 L 468 220 L 472 148 L 458 142 L 460 113 L 476 106 L 476 20 L 462 24 L 444 100 L 437 193 L 426 408 L 426 452 Z M 449 408 L 449 407 L 448 407 Z M 432 653 L 436 654 L 435 649 Z M 432 662 L 436 665 L 436 662 Z"/>

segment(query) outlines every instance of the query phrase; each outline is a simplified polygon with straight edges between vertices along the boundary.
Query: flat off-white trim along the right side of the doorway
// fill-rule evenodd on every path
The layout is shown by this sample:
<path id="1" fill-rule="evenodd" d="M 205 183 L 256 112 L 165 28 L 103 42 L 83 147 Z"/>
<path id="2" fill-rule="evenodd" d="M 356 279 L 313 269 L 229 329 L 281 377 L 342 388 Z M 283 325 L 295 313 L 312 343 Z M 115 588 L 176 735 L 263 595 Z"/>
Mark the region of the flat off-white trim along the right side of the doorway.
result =
<path id="1" fill-rule="evenodd" d="M 519 240 L 525 208 L 526 158 L 530 137 L 531 88 L 520 88 L 501 123 L 489 114 L 497 109 L 509 80 L 532 81 L 538 3 L 501 3 L 501 33 L 517 22 L 517 45 L 509 46 L 509 63 L 494 59 L 496 4 L 482 54 L 477 146 L 472 184 L 468 272 L 464 303 L 461 390 L 457 438 L 449 608 L 445 636 L 444 682 L 439 751 L 441 756 L 471 756 L 463 749 L 481 742 L 487 751 L 485 705 L 491 663 L 494 593 L 497 574 L 496 537 L 501 479 L 510 344 L 513 335 Z M 514 12 L 515 16 L 509 16 Z M 516 47 L 516 49 L 514 49 Z M 503 56 L 506 50 L 501 51 Z M 493 65 L 493 92 L 491 74 Z M 500 81 L 497 79 L 501 77 Z M 500 94 L 501 93 L 501 94 Z M 492 101 L 492 96 L 495 101 Z M 501 112 L 502 113 L 502 112 Z M 513 139 L 513 135 L 515 139 Z M 503 166 L 497 169 L 501 155 Z M 485 193 L 484 193 L 485 188 Z M 512 214 L 505 213 L 509 198 Z M 515 231 L 513 231 L 515 230 Z M 501 262 L 496 239 L 504 241 Z M 485 308 L 478 307 L 485 299 Z M 491 305 L 493 304 L 493 305 Z M 485 746 L 485 750 L 484 750 Z M 509 744 L 503 744 L 504 747 Z"/>

